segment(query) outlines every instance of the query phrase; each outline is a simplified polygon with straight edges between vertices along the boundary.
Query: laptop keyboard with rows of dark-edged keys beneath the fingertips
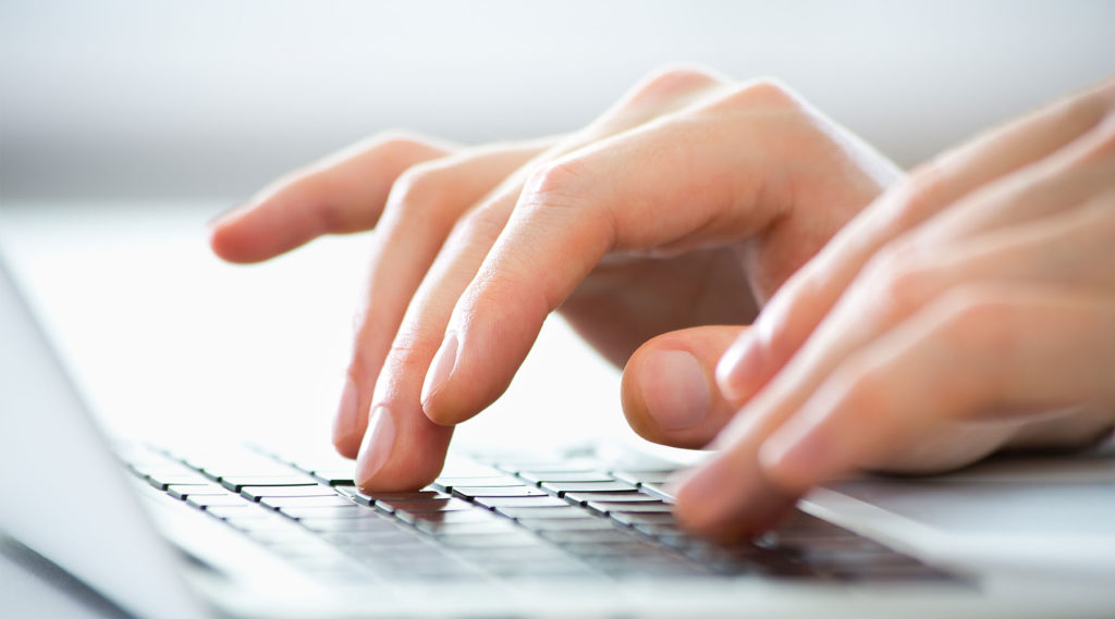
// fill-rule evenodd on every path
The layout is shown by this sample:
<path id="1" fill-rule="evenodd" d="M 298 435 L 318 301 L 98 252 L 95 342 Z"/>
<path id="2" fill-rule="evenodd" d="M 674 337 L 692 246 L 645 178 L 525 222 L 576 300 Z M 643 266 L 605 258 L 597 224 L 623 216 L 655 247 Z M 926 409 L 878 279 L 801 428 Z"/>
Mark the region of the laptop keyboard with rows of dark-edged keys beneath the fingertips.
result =
<path id="1" fill-rule="evenodd" d="M 756 540 L 687 534 L 662 462 L 450 455 L 429 487 L 366 494 L 351 463 L 255 449 L 118 450 L 144 488 L 331 581 L 780 578 L 948 581 L 914 558 L 795 511 Z"/>

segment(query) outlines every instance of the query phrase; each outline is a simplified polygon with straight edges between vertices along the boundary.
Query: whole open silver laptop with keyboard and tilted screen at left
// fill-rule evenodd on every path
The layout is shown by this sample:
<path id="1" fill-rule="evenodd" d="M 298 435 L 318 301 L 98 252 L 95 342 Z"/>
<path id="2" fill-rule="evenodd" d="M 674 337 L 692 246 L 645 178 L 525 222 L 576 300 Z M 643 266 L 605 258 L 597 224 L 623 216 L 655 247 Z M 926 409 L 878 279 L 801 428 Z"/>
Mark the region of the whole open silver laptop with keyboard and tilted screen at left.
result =
<path id="1" fill-rule="evenodd" d="M 673 521 L 683 462 L 641 445 L 457 452 L 366 494 L 316 445 L 116 440 L 3 261 L 0 325 L 4 544 L 127 616 L 1115 616 L 1109 446 L 850 479 L 718 544 Z"/>

